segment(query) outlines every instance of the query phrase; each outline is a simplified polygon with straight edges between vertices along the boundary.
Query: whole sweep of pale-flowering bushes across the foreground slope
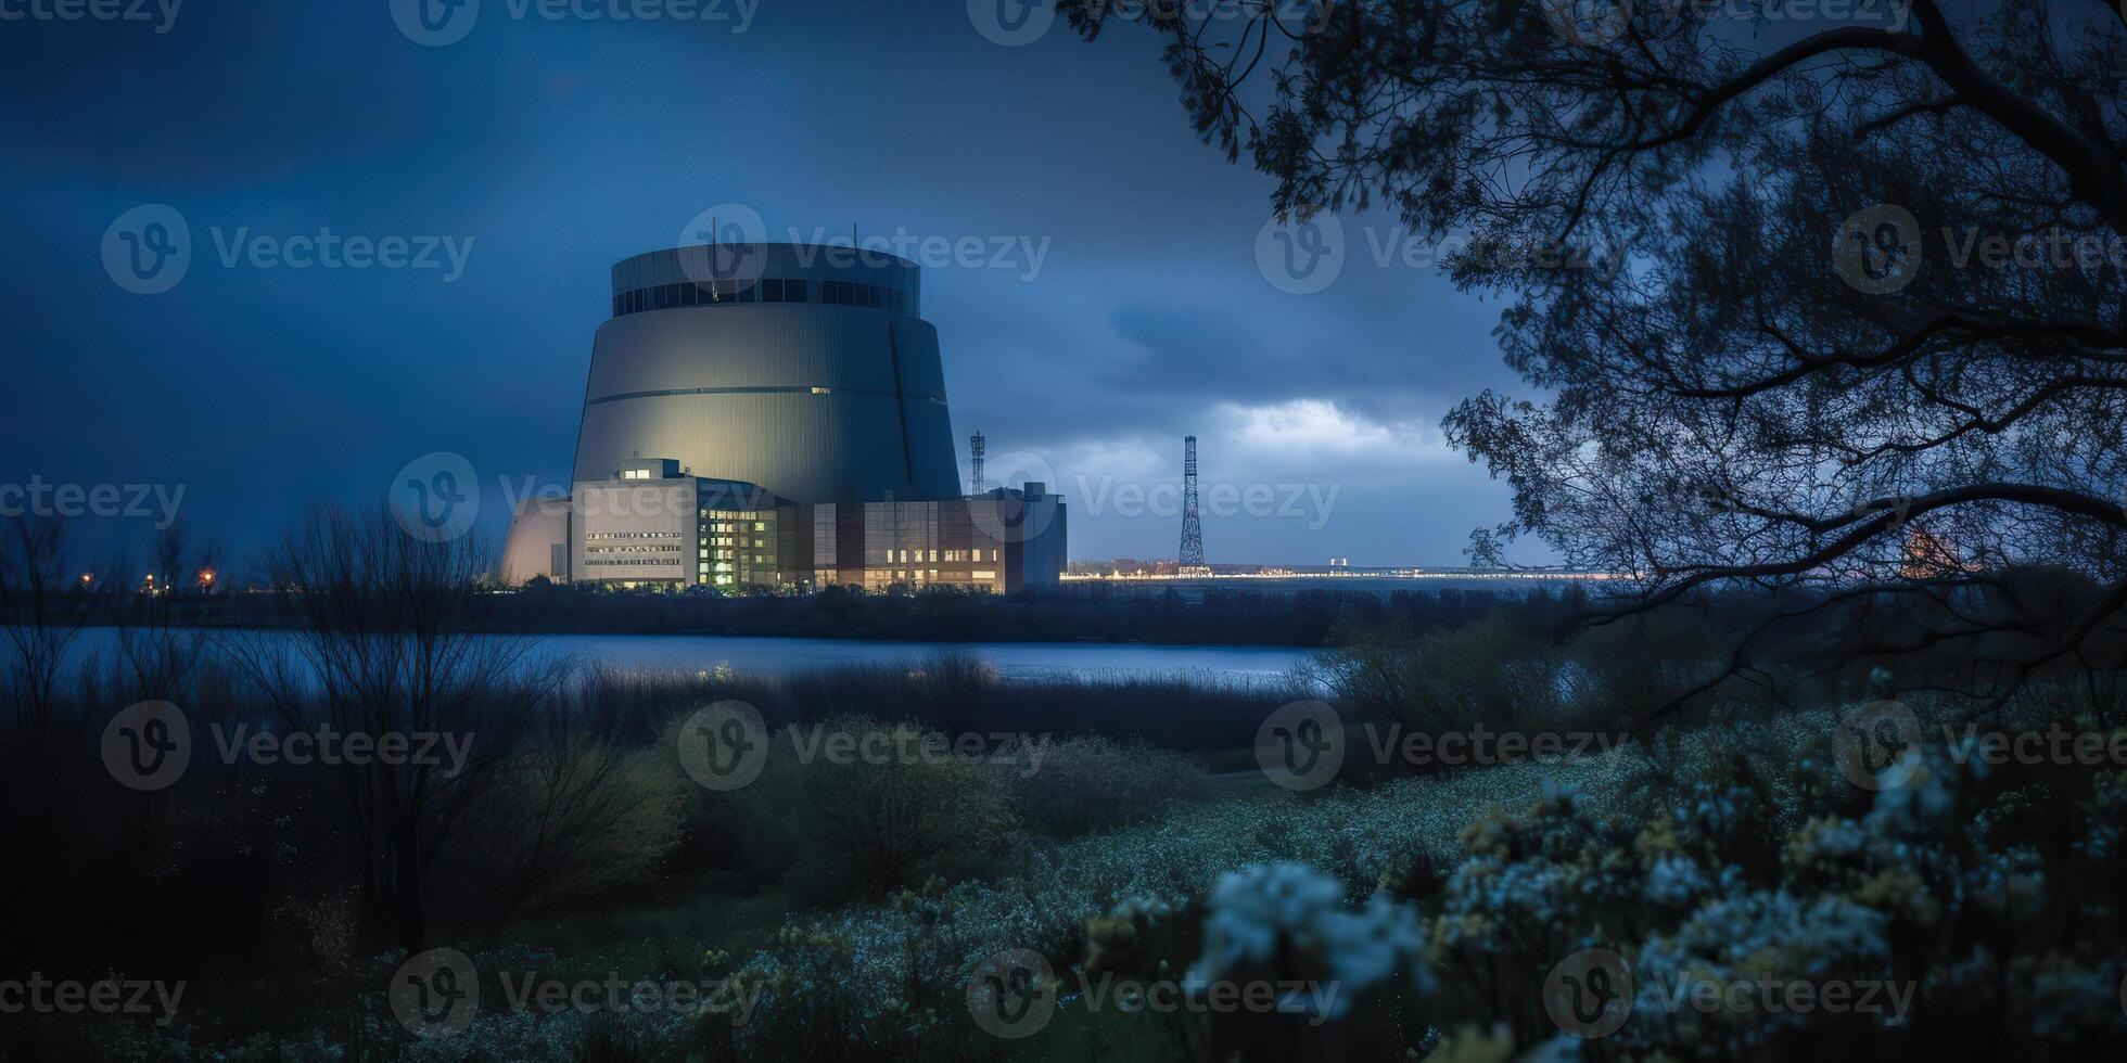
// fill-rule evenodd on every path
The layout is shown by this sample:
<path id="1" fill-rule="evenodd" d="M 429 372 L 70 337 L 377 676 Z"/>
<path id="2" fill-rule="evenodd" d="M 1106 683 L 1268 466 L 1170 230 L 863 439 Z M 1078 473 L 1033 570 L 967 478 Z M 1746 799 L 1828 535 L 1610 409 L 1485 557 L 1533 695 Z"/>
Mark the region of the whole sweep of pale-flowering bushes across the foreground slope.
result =
<path id="1" fill-rule="evenodd" d="M 2044 712 L 1989 721 L 2044 725 Z M 1225 1063 L 2127 1048 L 2127 772 L 1991 763 L 1987 738 L 1953 727 L 1923 729 L 1887 774 L 1902 782 L 1868 789 L 1844 776 L 1836 733 L 1833 712 L 1716 721 L 1587 759 L 1306 797 L 1234 791 L 1102 833 L 1023 833 L 1004 874 L 791 921 L 734 972 L 749 1010 L 498 1010 L 415 1044 L 368 999 L 334 1035 L 215 1052 Z M 806 782 L 770 793 L 806 797 Z M 874 782 L 851 780 L 847 797 L 974 795 L 978 833 L 1000 829 L 987 774 Z M 1029 1042 L 991 1037 L 970 1012 L 970 978 L 1004 950 L 1053 972 L 1055 1016 Z M 1617 978 L 1574 967 L 1572 1001 L 1591 989 L 1604 1008 L 1561 1014 L 1561 961 L 1587 950 L 1614 955 Z M 1189 1003 L 1217 984 L 1283 989 L 1259 1010 L 1151 1014 L 1115 1003 L 1146 995 L 1095 999 L 1104 978 L 1168 982 Z M 185 1054 L 189 1035 L 132 1031 L 102 1054 Z"/>

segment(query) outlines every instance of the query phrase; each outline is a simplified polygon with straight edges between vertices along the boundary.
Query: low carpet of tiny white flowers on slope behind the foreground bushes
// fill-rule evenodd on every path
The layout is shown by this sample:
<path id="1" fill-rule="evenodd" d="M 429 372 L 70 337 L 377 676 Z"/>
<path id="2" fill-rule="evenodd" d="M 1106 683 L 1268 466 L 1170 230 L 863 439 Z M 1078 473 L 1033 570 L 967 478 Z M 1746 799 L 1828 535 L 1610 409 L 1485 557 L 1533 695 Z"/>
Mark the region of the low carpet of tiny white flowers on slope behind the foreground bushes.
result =
<path id="1" fill-rule="evenodd" d="M 1380 880 L 1408 880 L 1414 855 L 1423 865 L 1451 861 L 1457 831 L 1489 804 L 1527 802 L 1553 778 L 1625 782 L 1642 767 L 1634 750 L 1617 750 L 1370 791 L 1334 789 L 1304 802 L 1244 793 L 1176 804 L 1153 823 L 1029 846 L 1008 878 L 932 887 L 923 904 L 902 897 L 791 925 L 742 972 L 761 997 L 755 1023 L 736 1031 L 740 1059 L 987 1059 L 983 1052 L 1002 1042 L 970 1025 L 961 999 L 985 957 L 1034 948 L 1059 974 L 1081 957 L 1089 969 L 1119 972 L 1157 969 L 1166 959 L 1174 976 L 1195 963 L 1202 940 L 1185 925 L 1198 921 L 1204 897 L 1229 872 L 1306 861 L 1351 895 L 1372 895 Z M 1176 912 L 1166 921 L 1176 933 L 1146 940 L 1136 959 L 1119 957 L 1123 942 L 1100 923 L 1159 910 Z M 1106 959 L 1089 955 L 1100 944 Z"/>

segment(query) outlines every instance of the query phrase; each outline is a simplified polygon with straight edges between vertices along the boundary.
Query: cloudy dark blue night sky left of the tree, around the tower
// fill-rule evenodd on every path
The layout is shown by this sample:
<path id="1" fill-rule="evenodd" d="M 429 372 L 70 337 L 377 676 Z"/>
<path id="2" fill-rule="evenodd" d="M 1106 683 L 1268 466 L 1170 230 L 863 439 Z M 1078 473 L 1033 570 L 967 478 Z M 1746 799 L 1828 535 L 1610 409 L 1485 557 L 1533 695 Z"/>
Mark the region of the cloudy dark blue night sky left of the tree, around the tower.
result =
<path id="1" fill-rule="evenodd" d="M 1191 432 L 1215 563 L 1461 563 L 1506 517 L 1438 427 L 1517 385 L 1497 302 L 1393 247 L 1378 266 L 1402 236 L 1378 215 L 1342 219 L 1325 289 L 1272 285 L 1270 181 L 1195 140 L 1151 34 L 1004 47 L 957 0 L 725 0 L 693 21 L 513 2 L 479 0 L 440 47 L 387 0 L 191 0 L 168 32 L 151 4 L 0 21 L 0 480 L 183 485 L 185 523 L 240 561 L 306 502 L 376 502 L 451 451 L 500 542 L 506 497 L 568 474 L 613 261 L 744 204 L 774 238 L 1012 249 L 925 270 L 925 317 L 961 463 L 974 429 L 993 466 L 1046 463 L 1072 557 L 1174 557 Z M 189 230 L 153 296 L 106 270 L 106 232 L 143 204 Z M 236 240 L 321 230 L 447 240 L 462 272 L 442 247 L 436 268 L 225 264 Z"/>

